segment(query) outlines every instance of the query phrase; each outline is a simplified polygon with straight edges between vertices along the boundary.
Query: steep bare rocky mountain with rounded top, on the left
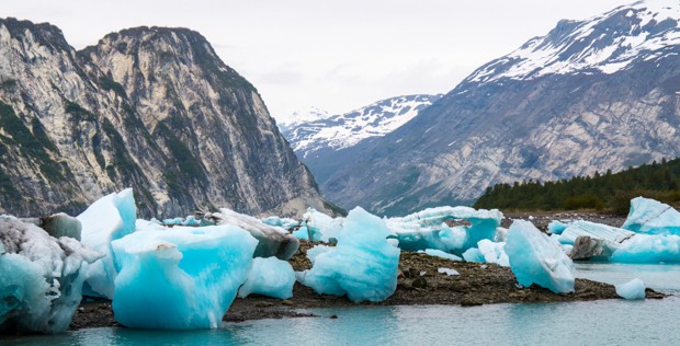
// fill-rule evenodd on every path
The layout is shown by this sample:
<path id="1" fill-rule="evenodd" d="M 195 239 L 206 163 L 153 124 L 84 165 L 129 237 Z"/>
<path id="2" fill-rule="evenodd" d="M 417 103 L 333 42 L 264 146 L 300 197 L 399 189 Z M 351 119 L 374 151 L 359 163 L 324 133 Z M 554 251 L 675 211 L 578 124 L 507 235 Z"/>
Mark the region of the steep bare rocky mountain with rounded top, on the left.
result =
<path id="1" fill-rule="evenodd" d="M 144 216 L 332 212 L 196 32 L 137 27 L 76 51 L 53 25 L 0 20 L 0 81 L 2 212 L 76 214 L 126 186 Z"/>

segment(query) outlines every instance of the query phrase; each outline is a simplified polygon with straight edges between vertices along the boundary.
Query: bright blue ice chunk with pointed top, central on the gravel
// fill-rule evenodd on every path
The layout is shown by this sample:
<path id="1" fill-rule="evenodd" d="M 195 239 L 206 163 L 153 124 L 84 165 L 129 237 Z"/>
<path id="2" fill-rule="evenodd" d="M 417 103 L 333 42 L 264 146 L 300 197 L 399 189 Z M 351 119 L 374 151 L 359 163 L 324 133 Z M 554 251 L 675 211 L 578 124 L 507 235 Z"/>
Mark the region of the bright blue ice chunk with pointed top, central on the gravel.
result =
<path id="1" fill-rule="evenodd" d="M 352 301 L 381 301 L 397 287 L 399 249 L 385 222 L 356 207 L 348 215 L 335 247 L 321 250 L 298 280 L 317 293 L 347 295 Z"/>

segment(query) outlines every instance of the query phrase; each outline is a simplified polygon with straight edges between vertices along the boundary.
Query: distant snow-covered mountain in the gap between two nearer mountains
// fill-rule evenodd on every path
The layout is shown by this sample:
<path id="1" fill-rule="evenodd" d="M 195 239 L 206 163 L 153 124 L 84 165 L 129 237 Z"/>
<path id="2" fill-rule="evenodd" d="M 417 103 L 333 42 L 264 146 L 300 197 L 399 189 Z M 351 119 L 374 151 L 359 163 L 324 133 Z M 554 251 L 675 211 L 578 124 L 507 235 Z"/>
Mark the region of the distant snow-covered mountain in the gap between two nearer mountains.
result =
<path id="1" fill-rule="evenodd" d="M 297 157 L 317 181 L 322 182 L 330 173 L 354 160 L 352 147 L 394 131 L 441 97 L 441 94 L 392 97 L 332 116 L 313 107 L 296 112 L 280 127 Z"/>

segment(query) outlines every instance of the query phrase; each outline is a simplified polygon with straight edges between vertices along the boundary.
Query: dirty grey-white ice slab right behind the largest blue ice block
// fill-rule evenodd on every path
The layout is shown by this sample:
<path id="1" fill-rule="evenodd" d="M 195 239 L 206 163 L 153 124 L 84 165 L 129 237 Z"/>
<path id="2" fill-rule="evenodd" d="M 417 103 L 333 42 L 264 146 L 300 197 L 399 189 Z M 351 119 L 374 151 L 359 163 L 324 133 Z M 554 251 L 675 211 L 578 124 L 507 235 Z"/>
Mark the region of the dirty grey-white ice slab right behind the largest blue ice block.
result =
<path id="1" fill-rule="evenodd" d="M 215 224 L 231 224 L 241 228 L 258 240 L 256 257 L 276 256 L 291 258 L 299 247 L 299 241 L 280 227 L 272 227 L 251 216 L 223 208 L 219 212 L 206 214 L 204 219 L 213 219 Z"/>

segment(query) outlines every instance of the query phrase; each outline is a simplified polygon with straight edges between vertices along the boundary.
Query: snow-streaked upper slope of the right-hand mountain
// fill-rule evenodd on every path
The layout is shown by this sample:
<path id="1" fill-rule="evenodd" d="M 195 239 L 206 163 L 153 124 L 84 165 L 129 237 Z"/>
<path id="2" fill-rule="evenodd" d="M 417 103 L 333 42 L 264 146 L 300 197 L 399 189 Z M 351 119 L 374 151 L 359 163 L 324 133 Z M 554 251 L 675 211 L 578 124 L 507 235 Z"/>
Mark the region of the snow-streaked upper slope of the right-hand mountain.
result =
<path id="1" fill-rule="evenodd" d="M 678 0 L 647 0 L 622 5 L 585 21 L 560 21 L 466 79 L 489 83 L 531 80 L 548 74 L 611 74 L 634 61 L 664 57 L 680 45 Z"/>

